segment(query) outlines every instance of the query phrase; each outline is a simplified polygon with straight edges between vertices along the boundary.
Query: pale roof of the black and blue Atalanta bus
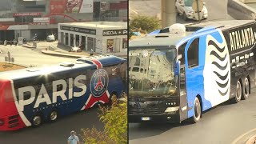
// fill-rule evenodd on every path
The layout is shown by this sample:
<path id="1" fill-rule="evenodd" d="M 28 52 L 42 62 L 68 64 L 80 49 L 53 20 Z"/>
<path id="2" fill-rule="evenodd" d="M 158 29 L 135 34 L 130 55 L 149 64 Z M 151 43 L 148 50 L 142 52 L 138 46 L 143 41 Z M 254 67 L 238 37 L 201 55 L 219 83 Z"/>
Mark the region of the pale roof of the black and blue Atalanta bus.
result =
<path id="1" fill-rule="evenodd" d="M 159 34 L 151 34 L 143 38 L 137 38 L 129 42 L 129 47 L 146 47 L 146 46 L 180 46 L 190 38 L 197 34 L 209 33 L 213 28 L 220 30 L 229 30 L 234 27 L 255 23 L 254 20 L 228 20 L 214 22 L 188 23 L 186 26 L 186 34 L 183 36 L 170 34 L 169 27 L 158 30 Z M 206 27 L 209 27 L 208 29 Z M 205 30 L 201 30 L 206 28 Z M 157 31 L 157 30 L 156 30 Z"/>

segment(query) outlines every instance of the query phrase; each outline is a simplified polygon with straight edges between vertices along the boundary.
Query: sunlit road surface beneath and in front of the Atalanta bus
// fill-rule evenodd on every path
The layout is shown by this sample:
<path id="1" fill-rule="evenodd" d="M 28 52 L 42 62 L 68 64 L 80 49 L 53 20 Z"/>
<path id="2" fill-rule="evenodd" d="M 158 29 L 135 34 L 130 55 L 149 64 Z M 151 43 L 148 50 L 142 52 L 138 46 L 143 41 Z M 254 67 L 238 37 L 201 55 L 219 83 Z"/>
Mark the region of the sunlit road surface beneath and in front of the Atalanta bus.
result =
<path id="1" fill-rule="evenodd" d="M 129 124 L 130 144 L 229 144 L 256 128 L 256 90 L 238 104 L 225 102 L 202 114 L 196 124 Z"/>

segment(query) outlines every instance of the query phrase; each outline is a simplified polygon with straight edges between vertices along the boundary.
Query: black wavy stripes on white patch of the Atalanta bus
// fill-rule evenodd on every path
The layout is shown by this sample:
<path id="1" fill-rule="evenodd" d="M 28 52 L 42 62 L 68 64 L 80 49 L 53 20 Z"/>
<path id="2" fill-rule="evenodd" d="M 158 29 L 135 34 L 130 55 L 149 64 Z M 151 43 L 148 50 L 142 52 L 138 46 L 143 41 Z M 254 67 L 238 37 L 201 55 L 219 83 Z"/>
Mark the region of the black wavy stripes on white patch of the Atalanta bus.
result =
<path id="1" fill-rule="evenodd" d="M 220 48 L 220 47 L 219 47 L 214 41 L 212 41 L 212 40 L 210 40 L 210 41 L 208 42 L 208 46 L 214 46 L 214 47 L 216 48 L 216 50 L 218 50 L 218 52 L 220 52 L 220 53 L 223 53 L 224 50 L 225 50 L 225 47 Z M 214 50 L 212 50 L 212 51 L 210 52 L 210 55 L 214 55 L 216 58 L 218 58 L 218 59 L 219 59 L 220 61 L 222 61 L 222 62 L 226 59 L 226 54 L 225 54 L 224 57 L 221 57 L 221 56 L 218 55 L 218 53 L 216 53 L 216 51 L 214 51 Z M 212 62 L 211 64 L 213 64 L 214 66 L 217 66 L 219 70 L 226 70 L 228 62 L 226 62 L 226 65 L 225 65 L 225 66 L 220 66 L 220 65 L 218 64 L 218 62 Z M 218 78 L 220 78 L 222 81 L 225 81 L 226 78 L 227 78 L 227 76 L 228 76 L 228 74 L 229 74 L 229 72 L 230 72 L 230 71 L 227 71 L 227 73 L 226 73 L 225 75 L 221 75 L 221 74 L 218 74 L 217 71 L 214 71 L 214 74 L 216 74 L 216 75 L 218 76 Z M 228 85 L 229 81 L 230 81 L 230 79 L 228 79 L 225 83 L 219 83 L 219 82 L 217 82 L 217 81 L 216 81 L 216 83 L 218 84 L 219 87 L 225 88 L 225 87 Z M 224 93 L 222 93 L 222 91 L 218 90 L 218 93 L 221 94 L 222 96 L 225 96 L 225 95 L 227 94 L 227 92 L 228 92 L 228 89 L 227 89 Z"/>

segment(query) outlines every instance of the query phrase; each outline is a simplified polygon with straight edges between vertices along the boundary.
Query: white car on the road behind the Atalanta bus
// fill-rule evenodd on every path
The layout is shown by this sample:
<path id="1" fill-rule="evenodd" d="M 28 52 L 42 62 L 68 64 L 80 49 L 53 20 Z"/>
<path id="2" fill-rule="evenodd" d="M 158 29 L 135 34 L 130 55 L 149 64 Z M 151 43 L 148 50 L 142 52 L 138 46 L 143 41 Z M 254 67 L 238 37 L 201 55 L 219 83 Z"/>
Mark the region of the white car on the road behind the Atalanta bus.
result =
<path id="1" fill-rule="evenodd" d="M 194 10 L 192 9 L 192 3 L 193 3 L 193 0 L 176 0 L 175 2 L 176 11 L 179 15 L 182 15 L 184 20 L 187 20 L 187 19 L 197 20 L 196 14 L 198 13 L 195 13 Z M 203 8 L 201 11 L 202 19 L 208 18 L 208 10 L 205 4 L 206 3 L 203 2 Z"/>

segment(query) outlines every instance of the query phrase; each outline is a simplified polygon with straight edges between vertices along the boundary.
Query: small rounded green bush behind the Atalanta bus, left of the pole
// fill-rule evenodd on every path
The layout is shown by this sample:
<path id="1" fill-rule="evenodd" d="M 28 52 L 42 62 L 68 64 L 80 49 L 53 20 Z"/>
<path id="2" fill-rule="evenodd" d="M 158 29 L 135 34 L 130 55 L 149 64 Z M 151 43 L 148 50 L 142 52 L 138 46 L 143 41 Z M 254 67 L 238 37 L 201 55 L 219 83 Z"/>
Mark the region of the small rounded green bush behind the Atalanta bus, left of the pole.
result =
<path id="1" fill-rule="evenodd" d="M 157 30 L 161 27 L 158 18 L 145 16 L 145 15 L 135 15 L 129 22 L 131 29 L 145 30 L 147 33 L 153 30 Z"/>

